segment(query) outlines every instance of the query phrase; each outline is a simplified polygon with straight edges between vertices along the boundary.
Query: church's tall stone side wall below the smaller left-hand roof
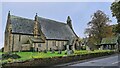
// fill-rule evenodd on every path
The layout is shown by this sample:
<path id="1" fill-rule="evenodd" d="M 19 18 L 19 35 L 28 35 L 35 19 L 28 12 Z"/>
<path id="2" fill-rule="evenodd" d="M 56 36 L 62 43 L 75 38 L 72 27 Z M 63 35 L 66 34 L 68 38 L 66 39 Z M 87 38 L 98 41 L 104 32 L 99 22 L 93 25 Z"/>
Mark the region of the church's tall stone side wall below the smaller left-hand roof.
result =
<path id="1" fill-rule="evenodd" d="M 29 35 L 11 34 L 11 41 L 9 41 L 8 38 L 7 43 L 5 45 L 5 52 L 8 52 L 9 49 L 10 51 L 21 51 L 22 49 L 28 50 L 28 48 L 30 49 L 30 43 L 29 46 L 27 46 L 29 37 Z M 11 44 L 9 44 L 10 42 Z"/>

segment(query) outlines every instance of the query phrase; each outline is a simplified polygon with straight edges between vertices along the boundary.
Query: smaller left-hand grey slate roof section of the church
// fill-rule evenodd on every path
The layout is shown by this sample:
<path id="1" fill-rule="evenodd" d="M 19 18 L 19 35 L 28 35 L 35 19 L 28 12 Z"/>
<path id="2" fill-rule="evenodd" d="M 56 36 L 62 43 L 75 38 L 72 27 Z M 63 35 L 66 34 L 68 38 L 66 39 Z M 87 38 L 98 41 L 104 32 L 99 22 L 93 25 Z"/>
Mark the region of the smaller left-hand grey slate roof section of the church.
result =
<path id="1" fill-rule="evenodd" d="M 12 33 L 33 34 L 34 21 L 11 15 Z"/>

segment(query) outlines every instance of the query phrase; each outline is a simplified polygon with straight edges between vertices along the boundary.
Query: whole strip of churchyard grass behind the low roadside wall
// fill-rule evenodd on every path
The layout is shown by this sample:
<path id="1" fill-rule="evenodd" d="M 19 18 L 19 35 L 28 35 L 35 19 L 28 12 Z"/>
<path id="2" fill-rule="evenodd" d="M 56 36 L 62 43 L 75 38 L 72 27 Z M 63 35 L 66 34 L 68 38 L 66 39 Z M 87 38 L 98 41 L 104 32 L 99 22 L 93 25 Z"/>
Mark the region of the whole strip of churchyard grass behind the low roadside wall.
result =
<path id="1" fill-rule="evenodd" d="M 87 50 L 76 50 L 74 51 L 74 54 L 71 55 L 82 55 L 82 54 L 89 54 L 89 53 L 100 53 L 100 52 L 111 52 L 112 50 L 94 50 L 94 51 L 87 51 Z M 61 54 L 58 54 L 58 51 L 55 51 L 55 53 L 51 53 L 48 51 L 47 53 L 44 52 L 13 52 L 21 56 L 21 58 L 18 59 L 6 59 L 2 60 L 2 63 L 8 63 L 8 62 L 22 62 L 26 60 L 32 60 L 34 58 L 53 58 L 56 56 L 69 56 L 65 54 L 65 51 L 62 51 Z M 2 54 L 2 53 L 0 53 Z"/>

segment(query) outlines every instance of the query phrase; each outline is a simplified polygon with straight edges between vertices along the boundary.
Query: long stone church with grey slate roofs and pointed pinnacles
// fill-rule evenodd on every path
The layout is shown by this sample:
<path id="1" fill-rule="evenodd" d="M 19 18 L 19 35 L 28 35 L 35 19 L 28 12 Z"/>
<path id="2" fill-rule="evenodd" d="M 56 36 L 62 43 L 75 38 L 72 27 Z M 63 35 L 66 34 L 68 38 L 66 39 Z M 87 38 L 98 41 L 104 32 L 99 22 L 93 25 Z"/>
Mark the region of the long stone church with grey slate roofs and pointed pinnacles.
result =
<path id="1" fill-rule="evenodd" d="M 58 22 L 35 15 L 34 20 L 11 15 L 7 17 L 4 52 L 80 49 L 79 37 L 73 30 L 71 19 Z"/>

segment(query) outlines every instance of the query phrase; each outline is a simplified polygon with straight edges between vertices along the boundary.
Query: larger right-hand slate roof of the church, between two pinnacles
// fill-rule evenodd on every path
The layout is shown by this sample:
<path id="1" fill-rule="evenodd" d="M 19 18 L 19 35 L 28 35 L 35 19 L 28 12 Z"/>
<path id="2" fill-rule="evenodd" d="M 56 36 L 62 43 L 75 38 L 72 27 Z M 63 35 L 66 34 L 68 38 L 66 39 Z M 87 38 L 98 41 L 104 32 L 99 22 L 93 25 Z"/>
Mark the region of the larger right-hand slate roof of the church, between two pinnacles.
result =
<path id="1" fill-rule="evenodd" d="M 38 21 L 41 25 L 41 30 L 47 39 L 68 40 L 69 38 L 76 37 L 72 29 L 66 23 L 41 17 L 38 17 Z"/>

